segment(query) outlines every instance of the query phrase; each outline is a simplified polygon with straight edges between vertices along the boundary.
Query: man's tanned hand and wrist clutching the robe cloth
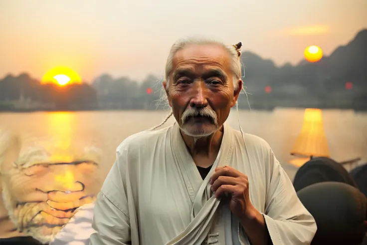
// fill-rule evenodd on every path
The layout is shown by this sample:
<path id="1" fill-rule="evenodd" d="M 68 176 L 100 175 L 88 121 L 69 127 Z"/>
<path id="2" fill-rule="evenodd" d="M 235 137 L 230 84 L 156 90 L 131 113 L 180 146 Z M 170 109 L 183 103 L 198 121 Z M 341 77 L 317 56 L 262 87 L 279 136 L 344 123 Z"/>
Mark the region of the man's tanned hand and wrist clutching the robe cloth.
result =
<path id="1" fill-rule="evenodd" d="M 229 166 L 215 169 L 210 178 L 216 198 L 228 196 L 229 209 L 239 220 L 252 220 L 254 207 L 248 194 L 247 176 Z"/>

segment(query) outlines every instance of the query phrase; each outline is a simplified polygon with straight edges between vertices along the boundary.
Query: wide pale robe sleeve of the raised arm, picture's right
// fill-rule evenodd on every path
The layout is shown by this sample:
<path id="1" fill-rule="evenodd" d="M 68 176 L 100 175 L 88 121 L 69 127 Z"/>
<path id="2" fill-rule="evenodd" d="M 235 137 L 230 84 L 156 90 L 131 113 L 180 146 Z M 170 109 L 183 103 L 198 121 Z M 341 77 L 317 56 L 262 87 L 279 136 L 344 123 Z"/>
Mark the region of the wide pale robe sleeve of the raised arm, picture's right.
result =
<path id="1" fill-rule="evenodd" d="M 310 245 L 317 227 L 298 199 L 293 184 L 271 153 L 265 222 L 273 245 Z"/>

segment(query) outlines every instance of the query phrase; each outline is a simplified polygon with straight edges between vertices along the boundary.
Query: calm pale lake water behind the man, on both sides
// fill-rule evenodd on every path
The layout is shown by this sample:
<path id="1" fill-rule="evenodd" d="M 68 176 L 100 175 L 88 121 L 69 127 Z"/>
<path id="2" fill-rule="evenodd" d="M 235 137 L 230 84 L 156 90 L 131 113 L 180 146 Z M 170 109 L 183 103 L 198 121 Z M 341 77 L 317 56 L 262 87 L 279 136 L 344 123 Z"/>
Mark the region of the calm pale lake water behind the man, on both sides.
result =
<path id="1" fill-rule="evenodd" d="M 239 111 L 242 129 L 265 139 L 290 178 L 297 168 L 287 162 L 301 130 L 303 109 Z M 0 129 L 9 129 L 25 138 L 52 137 L 58 147 L 94 145 L 102 150 L 101 178 L 104 179 L 114 160 L 116 147 L 129 135 L 159 124 L 166 111 L 91 111 L 0 113 Z M 345 161 L 361 157 L 367 162 L 367 113 L 324 110 L 325 133 L 331 157 Z M 170 125 L 170 119 L 166 125 Z M 238 129 L 237 113 L 227 122 Z"/>

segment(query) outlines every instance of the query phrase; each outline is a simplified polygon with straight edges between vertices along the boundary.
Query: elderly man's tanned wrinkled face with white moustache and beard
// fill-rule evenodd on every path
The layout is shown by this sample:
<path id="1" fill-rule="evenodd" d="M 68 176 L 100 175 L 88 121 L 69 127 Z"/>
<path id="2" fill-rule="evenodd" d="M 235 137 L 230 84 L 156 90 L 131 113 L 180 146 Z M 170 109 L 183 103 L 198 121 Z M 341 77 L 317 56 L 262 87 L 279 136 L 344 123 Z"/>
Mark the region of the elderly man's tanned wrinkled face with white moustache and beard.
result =
<path id="1" fill-rule="evenodd" d="M 186 135 L 208 136 L 227 119 L 242 88 L 242 81 L 237 80 L 238 89 L 233 90 L 230 65 L 230 54 L 216 44 L 187 45 L 176 53 L 166 91 Z"/>

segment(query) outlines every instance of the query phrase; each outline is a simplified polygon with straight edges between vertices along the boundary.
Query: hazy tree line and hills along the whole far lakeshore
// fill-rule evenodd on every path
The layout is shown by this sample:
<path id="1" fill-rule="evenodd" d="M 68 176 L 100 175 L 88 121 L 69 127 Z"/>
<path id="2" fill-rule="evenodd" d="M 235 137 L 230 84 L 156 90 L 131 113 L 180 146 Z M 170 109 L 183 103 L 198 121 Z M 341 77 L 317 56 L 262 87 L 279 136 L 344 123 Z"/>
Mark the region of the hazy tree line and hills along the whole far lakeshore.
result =
<path id="1" fill-rule="evenodd" d="M 253 109 L 282 107 L 367 110 L 367 29 L 319 62 L 275 66 L 252 52 L 242 52 L 243 81 Z M 0 110 L 161 109 L 162 78 L 137 82 L 108 74 L 83 84 L 40 84 L 28 74 L 0 80 Z M 248 108 L 245 95 L 240 108 Z"/>

